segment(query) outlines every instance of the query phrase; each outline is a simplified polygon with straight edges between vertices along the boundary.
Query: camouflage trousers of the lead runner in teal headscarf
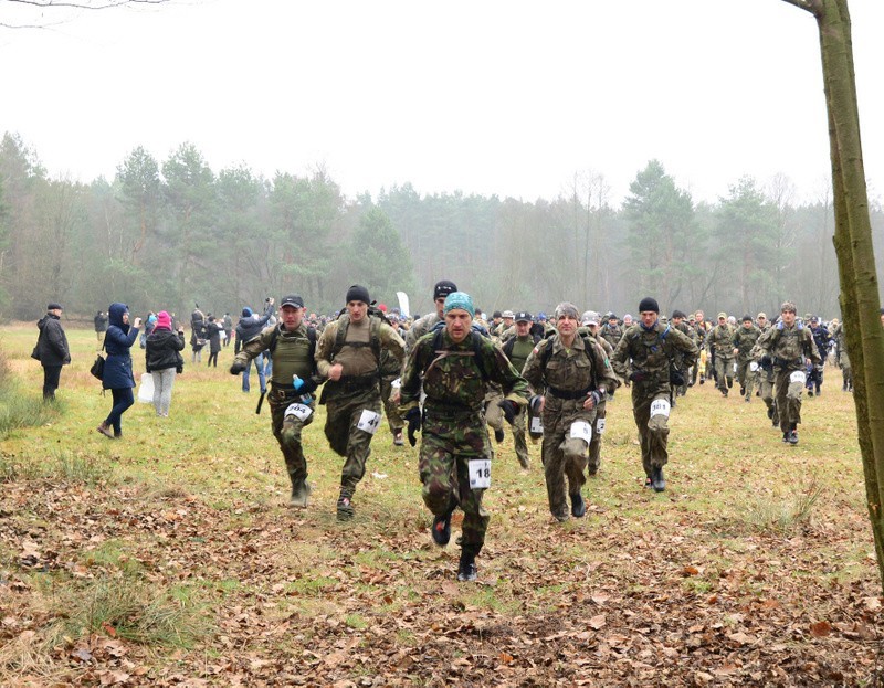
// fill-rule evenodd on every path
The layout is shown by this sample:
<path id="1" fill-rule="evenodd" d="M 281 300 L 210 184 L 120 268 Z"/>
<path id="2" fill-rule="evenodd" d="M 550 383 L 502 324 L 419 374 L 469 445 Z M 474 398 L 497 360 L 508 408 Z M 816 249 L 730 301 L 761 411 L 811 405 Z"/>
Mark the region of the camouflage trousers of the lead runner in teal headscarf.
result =
<path id="1" fill-rule="evenodd" d="M 481 412 L 433 413 L 427 409 L 418 461 L 423 504 L 433 516 L 460 506 L 463 510 L 461 549 L 478 554 L 485 543 L 491 517 L 482 508 L 484 489 L 470 487 L 470 459 L 491 458 L 491 442 Z"/>

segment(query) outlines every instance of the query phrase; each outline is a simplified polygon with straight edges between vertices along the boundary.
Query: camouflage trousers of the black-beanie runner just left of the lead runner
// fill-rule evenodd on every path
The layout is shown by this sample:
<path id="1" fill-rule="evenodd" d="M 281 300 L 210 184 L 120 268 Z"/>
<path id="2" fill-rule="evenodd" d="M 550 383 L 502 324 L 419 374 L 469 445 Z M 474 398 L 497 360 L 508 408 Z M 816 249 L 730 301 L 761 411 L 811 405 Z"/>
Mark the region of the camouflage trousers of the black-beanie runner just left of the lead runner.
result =
<path id="1" fill-rule="evenodd" d="M 371 454 L 373 433 L 357 427 L 364 411 L 380 417 L 381 403 L 377 388 L 326 402 L 325 436 L 332 449 L 344 456 L 340 472 L 340 490 L 350 496 L 366 473 L 366 462 Z M 380 425 L 380 423 L 378 423 Z M 377 426 L 376 426 L 377 430 Z"/>

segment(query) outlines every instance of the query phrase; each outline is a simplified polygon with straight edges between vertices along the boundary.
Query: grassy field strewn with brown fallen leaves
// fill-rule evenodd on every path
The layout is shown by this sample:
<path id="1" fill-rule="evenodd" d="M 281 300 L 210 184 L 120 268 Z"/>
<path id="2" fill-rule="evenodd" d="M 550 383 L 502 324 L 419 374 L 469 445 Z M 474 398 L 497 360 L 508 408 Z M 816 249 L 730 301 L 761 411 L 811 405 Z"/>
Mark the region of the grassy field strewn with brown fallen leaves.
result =
<path id="1" fill-rule="evenodd" d="M 0 685 L 881 685 L 881 581 L 836 370 L 806 399 L 796 447 L 759 399 L 690 390 L 660 495 L 641 487 L 621 390 L 587 517 L 564 525 L 539 445 L 522 470 L 507 433 L 465 584 L 457 549 L 431 543 L 417 449 L 386 426 L 339 523 L 320 409 L 312 504 L 291 510 L 256 380 L 244 394 L 227 372 L 232 347 L 218 369 L 186 351 L 170 417 L 136 403 L 110 441 L 95 431 L 110 406 L 88 374 L 95 335 L 67 334 L 49 412 L 31 403 L 36 328 L 0 334 L 18 380 L 0 413 L 36 409 L 0 445 Z"/>

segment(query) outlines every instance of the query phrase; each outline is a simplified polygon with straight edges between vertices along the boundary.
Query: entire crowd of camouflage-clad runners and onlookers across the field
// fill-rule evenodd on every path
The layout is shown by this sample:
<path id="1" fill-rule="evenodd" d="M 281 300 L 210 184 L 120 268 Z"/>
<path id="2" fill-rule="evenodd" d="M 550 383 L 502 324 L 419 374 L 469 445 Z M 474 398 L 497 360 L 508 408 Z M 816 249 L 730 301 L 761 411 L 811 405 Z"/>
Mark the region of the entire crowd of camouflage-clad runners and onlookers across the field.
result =
<path id="1" fill-rule="evenodd" d="M 600 469 L 607 406 L 621 385 L 631 388 L 644 485 L 657 493 L 666 489 L 670 414 L 694 384 L 712 380 L 727 398 L 736 381 L 746 403 L 754 394 L 761 398 L 768 419 L 791 445 L 798 443 L 802 392 L 821 394 L 827 359 L 841 369 L 842 390 L 852 390 L 841 324 L 811 314 L 799 318 L 790 301 L 774 321 L 764 313 L 739 322 L 719 313 L 713 324 L 702 310 L 690 316 L 673 310 L 667 318 L 652 297 L 641 300 L 635 319 L 581 313 L 568 301 L 549 318 L 504 310 L 485 319 L 469 294 L 442 279 L 434 285 L 433 303 L 432 313 L 409 317 L 376 307 L 368 289 L 352 285 L 339 313 L 307 314 L 303 298 L 291 294 L 278 309 L 273 298 L 260 313 L 243 307 L 235 328 L 229 314 L 215 318 L 197 305 L 189 322 L 190 358 L 201 363 L 208 345 L 207 366 L 217 367 L 219 352 L 235 341 L 230 372 L 241 375 L 243 392 L 251 389 L 254 367 L 257 410 L 266 398 L 292 507 L 306 508 L 309 501 L 302 435 L 317 402 L 326 406 L 329 446 L 344 458 L 339 520 L 355 515 L 356 489 L 382 415 L 397 446 L 406 434 L 415 446 L 421 433 L 419 474 L 436 544 L 449 543 L 454 510 L 464 512 L 462 581 L 477 575 L 475 560 L 488 525 L 482 496 L 491 484 L 491 436 L 499 443 L 505 424 L 525 469 L 530 466 L 527 438 L 541 441 L 549 510 L 565 521 L 586 515 L 583 486 Z M 55 398 L 62 367 L 71 362 L 61 315 L 60 304 L 49 304 L 38 322 L 33 356 L 44 369 L 48 401 Z M 102 384 L 113 398 L 97 432 L 109 438 L 122 437 L 122 416 L 134 403 L 136 341 L 145 349 L 158 416 L 169 415 L 176 374 L 183 370 L 185 328 L 175 314 L 151 311 L 143 331 L 141 324 L 138 317 L 130 321 L 120 303 L 95 316 L 106 352 Z"/>

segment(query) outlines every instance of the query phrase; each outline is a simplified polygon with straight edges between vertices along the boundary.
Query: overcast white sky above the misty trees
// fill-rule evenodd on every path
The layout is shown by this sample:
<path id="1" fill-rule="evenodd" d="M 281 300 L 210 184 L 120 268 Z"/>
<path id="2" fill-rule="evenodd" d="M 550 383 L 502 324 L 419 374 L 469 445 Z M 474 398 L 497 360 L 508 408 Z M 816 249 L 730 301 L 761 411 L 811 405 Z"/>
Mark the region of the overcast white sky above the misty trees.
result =
<path id="1" fill-rule="evenodd" d="M 851 0 L 870 192 L 884 191 L 884 1 Z M 63 14 L 64 12 L 64 14 Z M 781 0 L 171 0 L 42 10 L 0 28 L 0 134 L 55 176 L 113 178 L 136 146 L 212 169 L 324 165 L 344 192 L 618 202 L 660 159 L 695 200 L 750 174 L 820 198 L 828 130 L 813 18 Z M 0 24 L 35 21 L 0 0 Z"/>

